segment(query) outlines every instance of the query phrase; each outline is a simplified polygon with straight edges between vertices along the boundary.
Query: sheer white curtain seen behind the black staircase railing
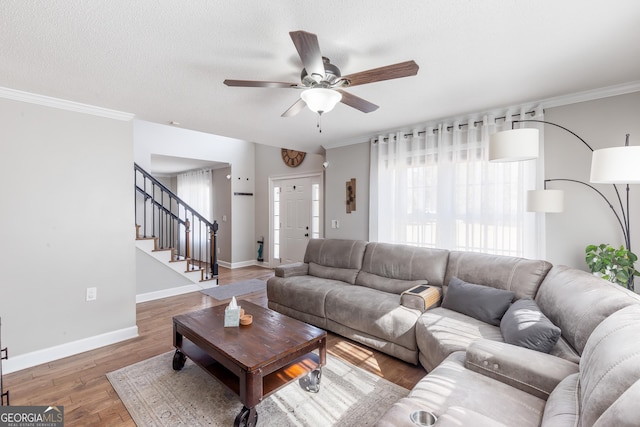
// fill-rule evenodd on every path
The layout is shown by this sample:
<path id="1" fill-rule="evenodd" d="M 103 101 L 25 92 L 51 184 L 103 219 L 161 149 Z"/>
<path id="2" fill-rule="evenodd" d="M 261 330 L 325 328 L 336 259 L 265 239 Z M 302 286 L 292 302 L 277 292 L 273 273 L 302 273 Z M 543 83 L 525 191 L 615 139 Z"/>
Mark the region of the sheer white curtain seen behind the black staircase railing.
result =
<path id="1" fill-rule="evenodd" d="M 180 197 L 186 204 L 191 206 L 202 215 L 207 221 L 212 222 L 212 173 L 210 170 L 190 171 L 178 175 L 178 197 Z M 180 218 L 185 218 L 184 212 L 180 212 Z M 195 246 L 200 245 L 202 242 L 206 242 L 209 236 L 207 235 L 206 228 L 200 226 L 198 221 L 191 221 L 191 238 Z M 181 245 L 184 244 L 184 233 L 180 233 Z M 195 258 L 196 254 L 192 254 Z"/>

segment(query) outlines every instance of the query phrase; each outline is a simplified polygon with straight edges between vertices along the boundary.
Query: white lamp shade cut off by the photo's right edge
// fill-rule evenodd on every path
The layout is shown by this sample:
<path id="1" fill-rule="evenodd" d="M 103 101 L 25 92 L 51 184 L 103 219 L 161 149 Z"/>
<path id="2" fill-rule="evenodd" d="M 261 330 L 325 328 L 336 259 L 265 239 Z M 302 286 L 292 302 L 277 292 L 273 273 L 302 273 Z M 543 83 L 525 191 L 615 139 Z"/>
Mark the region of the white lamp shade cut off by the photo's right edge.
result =
<path id="1" fill-rule="evenodd" d="M 595 150 L 591 157 L 590 181 L 596 184 L 640 184 L 640 147 Z"/>

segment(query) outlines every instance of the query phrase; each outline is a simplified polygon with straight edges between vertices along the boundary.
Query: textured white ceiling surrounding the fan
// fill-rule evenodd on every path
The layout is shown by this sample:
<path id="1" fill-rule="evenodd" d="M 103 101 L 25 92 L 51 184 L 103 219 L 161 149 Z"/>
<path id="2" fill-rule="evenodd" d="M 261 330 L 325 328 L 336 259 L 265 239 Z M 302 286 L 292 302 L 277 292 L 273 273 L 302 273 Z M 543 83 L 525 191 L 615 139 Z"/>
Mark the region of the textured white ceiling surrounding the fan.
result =
<path id="1" fill-rule="evenodd" d="M 0 86 L 278 147 L 321 147 L 443 117 L 640 79 L 637 0 L 3 0 Z M 289 31 L 343 75 L 413 59 L 415 77 L 347 89 L 380 105 L 280 115 L 299 82 Z"/>

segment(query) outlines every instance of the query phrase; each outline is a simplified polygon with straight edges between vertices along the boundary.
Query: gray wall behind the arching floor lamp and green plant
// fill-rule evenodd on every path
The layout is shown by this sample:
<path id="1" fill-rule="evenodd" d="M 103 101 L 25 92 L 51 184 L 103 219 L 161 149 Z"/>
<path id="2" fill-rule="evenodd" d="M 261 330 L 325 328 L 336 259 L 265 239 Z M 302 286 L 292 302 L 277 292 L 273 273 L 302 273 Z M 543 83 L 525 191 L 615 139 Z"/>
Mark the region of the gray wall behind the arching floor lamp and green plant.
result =
<path id="1" fill-rule="evenodd" d="M 625 134 L 631 145 L 640 145 L 640 92 L 581 102 L 545 110 L 545 120 L 580 135 L 594 149 L 622 146 Z M 640 167 L 640 165 L 638 165 Z M 589 182 L 591 151 L 580 140 L 554 126 L 545 126 L 545 175 L 548 179 L 571 178 Z M 612 185 L 594 184 L 614 206 Z M 552 182 L 548 188 L 562 189 L 563 213 L 546 214 L 547 259 L 587 269 L 584 248 L 589 244 L 624 243 L 622 231 L 606 202 L 581 184 Z M 625 187 L 618 186 L 625 197 Z M 640 252 L 640 185 L 631 185 L 632 249 Z M 536 215 L 536 214 L 531 214 Z M 542 215 L 542 214 L 537 214 Z M 636 279 L 637 280 L 637 279 Z"/>

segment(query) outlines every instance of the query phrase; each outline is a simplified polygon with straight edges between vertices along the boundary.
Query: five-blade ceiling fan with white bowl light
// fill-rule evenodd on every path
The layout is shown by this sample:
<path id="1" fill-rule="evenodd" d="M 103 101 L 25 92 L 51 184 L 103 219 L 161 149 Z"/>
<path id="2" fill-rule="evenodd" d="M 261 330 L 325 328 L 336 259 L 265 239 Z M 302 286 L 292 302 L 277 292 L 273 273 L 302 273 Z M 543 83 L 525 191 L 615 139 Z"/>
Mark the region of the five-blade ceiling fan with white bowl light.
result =
<path id="1" fill-rule="evenodd" d="M 345 92 L 342 88 L 418 74 L 418 64 L 415 61 L 405 61 L 342 76 L 340 69 L 320 53 L 318 37 L 315 34 L 306 31 L 291 31 L 289 35 L 304 65 L 300 75 L 300 83 L 227 79 L 224 84 L 241 87 L 303 89 L 300 99 L 282 113 L 282 117 L 295 116 L 305 106 L 322 115 L 331 111 L 338 102 L 363 113 L 370 113 L 378 109 L 376 104 Z"/>

